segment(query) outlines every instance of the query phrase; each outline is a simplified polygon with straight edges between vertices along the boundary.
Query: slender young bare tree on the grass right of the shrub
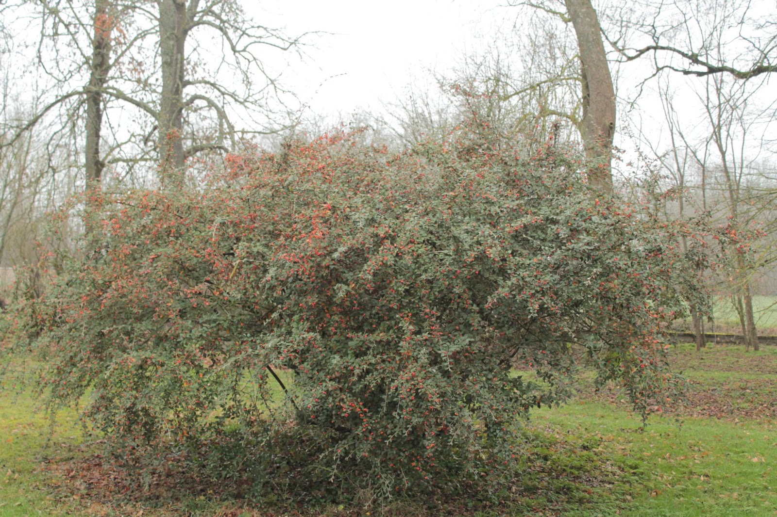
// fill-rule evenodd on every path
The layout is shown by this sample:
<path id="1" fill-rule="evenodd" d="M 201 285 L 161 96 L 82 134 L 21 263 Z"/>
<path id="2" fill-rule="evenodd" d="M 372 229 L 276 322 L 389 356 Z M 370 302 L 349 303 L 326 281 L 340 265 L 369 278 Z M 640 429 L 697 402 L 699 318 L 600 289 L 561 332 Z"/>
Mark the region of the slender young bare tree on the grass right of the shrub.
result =
<path id="1" fill-rule="evenodd" d="M 662 168 L 670 173 L 673 186 L 699 190 L 697 208 L 709 210 L 725 231 L 720 243 L 726 274 L 720 286 L 730 293 L 747 349 L 758 349 L 752 285 L 754 273 L 765 262 L 759 258 L 758 242 L 747 239 L 758 234 L 752 227 L 755 220 L 771 213 L 773 199 L 768 197 L 768 189 L 754 189 L 751 182 L 762 177 L 757 164 L 765 135 L 773 127 L 775 101 L 763 95 L 764 85 L 755 80 L 709 75 L 695 83 L 697 108 L 692 111 L 702 113 L 701 117 L 678 113 L 678 102 L 670 93 L 677 90 L 676 85 L 666 78 L 660 97 L 668 134 L 663 145 L 668 146 L 659 151 L 657 144 L 650 145 Z M 689 100 L 686 95 L 685 103 Z M 650 142 L 651 137 L 644 141 Z M 693 185 L 688 183 L 691 167 L 699 172 Z M 685 212 L 683 197 L 678 211 Z M 692 323 L 700 344 L 699 322 Z"/>

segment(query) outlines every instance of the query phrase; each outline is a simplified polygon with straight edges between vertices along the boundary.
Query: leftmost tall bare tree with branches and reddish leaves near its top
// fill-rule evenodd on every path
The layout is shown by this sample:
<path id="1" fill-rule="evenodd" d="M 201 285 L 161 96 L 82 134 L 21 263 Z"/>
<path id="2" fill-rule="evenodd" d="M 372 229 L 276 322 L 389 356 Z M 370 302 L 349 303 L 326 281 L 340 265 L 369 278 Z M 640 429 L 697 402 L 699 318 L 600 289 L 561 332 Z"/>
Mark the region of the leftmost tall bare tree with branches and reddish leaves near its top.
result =
<path id="1" fill-rule="evenodd" d="M 63 0 L 17 0 L 5 6 L 9 14 L 23 15 L 40 26 L 40 38 L 34 54 L 22 50 L 19 59 L 31 59 L 40 72 L 36 79 L 37 110 L 23 120 L 5 127 L 12 144 L 26 131 L 50 127 L 47 150 L 76 147 L 82 150 L 84 183 L 87 188 L 99 186 L 105 166 L 103 120 L 106 89 L 117 77 L 111 75 L 138 39 L 126 38 L 124 19 L 127 6 L 113 0 L 90 0 L 82 3 Z M 20 27 L 13 29 L 24 41 Z M 30 84 L 29 77 L 17 78 L 19 84 Z M 53 123 L 53 124 L 52 124 Z"/>

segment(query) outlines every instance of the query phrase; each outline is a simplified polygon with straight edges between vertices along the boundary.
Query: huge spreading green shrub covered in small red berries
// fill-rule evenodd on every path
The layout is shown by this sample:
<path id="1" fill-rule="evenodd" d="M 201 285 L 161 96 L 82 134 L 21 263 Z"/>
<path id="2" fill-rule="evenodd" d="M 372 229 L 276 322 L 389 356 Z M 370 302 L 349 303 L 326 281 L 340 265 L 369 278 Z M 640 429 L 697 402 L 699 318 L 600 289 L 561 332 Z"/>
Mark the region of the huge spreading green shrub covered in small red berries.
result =
<path id="1" fill-rule="evenodd" d="M 493 481 L 581 359 L 643 414 L 673 393 L 660 334 L 693 292 L 692 234 L 580 170 L 468 130 L 396 155 L 334 134 L 232 156 L 201 189 L 106 194 L 15 348 L 125 451 L 267 474 L 286 443 L 383 496 Z"/>

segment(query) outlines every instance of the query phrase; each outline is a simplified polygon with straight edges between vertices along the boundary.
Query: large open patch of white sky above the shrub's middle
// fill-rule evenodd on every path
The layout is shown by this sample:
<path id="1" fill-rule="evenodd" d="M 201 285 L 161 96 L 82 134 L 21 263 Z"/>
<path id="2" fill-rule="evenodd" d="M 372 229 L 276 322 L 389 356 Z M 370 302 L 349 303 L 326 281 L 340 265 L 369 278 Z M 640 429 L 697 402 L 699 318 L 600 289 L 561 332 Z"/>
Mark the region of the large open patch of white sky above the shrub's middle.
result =
<path id="1" fill-rule="evenodd" d="M 273 0 L 246 10 L 290 36 L 322 32 L 309 37 L 308 57 L 292 62 L 282 82 L 329 116 L 380 110 L 427 70 L 448 71 L 482 49 L 484 34 L 514 18 L 498 0 Z"/>

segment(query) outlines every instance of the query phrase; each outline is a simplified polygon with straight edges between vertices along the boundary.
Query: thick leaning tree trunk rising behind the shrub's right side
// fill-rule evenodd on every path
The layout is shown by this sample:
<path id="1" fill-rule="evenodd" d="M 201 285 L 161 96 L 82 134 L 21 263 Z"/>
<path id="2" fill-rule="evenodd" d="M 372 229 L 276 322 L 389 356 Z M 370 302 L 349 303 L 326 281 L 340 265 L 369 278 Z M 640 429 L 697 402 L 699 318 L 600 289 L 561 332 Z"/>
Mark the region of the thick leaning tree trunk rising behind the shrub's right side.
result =
<path id="1" fill-rule="evenodd" d="M 606 192 L 612 191 L 611 151 L 615 135 L 615 88 L 607 64 L 601 26 L 591 0 L 566 0 L 577 34 L 583 81 L 583 137 L 586 158 L 594 163 L 588 180 Z"/>

